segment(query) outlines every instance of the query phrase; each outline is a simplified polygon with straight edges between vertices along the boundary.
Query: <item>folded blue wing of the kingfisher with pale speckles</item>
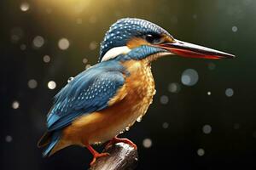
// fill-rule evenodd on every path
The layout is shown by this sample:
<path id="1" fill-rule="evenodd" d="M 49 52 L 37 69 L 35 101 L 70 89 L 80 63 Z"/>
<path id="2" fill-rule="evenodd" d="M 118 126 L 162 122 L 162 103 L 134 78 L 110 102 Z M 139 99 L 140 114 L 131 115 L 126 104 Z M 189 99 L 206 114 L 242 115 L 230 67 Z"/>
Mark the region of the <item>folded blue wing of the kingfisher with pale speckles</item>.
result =
<path id="1" fill-rule="evenodd" d="M 55 96 L 55 105 L 47 117 L 48 131 L 59 130 L 81 115 L 108 107 L 108 101 L 125 82 L 123 73 L 122 65 L 106 62 L 74 77 Z"/>

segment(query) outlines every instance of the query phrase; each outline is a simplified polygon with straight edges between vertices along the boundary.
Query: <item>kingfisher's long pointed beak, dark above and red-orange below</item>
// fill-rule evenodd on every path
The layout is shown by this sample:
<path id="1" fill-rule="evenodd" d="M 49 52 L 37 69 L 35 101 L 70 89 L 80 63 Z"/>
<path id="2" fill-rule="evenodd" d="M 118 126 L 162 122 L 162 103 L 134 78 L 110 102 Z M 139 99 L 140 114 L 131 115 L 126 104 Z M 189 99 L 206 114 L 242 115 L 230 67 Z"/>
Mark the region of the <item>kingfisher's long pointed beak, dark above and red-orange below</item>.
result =
<path id="1" fill-rule="evenodd" d="M 233 59 L 235 55 L 227 54 L 212 48 L 205 48 L 189 42 L 175 40 L 174 42 L 165 42 L 158 45 L 182 57 L 201 58 L 201 59 Z"/>

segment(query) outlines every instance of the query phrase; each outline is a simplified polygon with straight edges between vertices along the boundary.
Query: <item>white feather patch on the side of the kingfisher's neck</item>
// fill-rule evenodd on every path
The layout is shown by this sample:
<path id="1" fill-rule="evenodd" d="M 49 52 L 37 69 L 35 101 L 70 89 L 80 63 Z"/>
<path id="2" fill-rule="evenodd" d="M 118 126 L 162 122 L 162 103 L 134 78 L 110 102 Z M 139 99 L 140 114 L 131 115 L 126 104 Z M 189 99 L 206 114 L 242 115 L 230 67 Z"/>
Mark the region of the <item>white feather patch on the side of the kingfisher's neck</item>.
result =
<path id="1" fill-rule="evenodd" d="M 107 61 L 108 59 L 113 59 L 117 57 L 119 54 L 127 54 L 131 51 L 131 48 L 127 46 L 121 46 L 117 48 L 111 48 L 108 50 L 106 54 L 102 57 L 102 61 Z"/>

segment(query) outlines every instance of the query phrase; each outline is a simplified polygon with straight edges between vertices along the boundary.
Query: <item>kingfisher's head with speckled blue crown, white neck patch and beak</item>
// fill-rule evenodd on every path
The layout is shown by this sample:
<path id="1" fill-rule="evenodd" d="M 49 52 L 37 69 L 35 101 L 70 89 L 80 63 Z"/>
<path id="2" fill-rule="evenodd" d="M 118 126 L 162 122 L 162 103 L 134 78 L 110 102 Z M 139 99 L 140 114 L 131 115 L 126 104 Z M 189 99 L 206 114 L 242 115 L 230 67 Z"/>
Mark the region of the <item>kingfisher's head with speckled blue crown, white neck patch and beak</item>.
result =
<path id="1" fill-rule="evenodd" d="M 147 20 L 125 18 L 118 20 L 107 31 L 103 42 L 99 62 L 114 59 L 120 54 L 130 54 L 133 59 L 145 59 L 152 54 L 160 57 L 166 54 L 177 54 L 183 57 L 202 59 L 234 58 L 212 48 L 201 47 L 192 43 L 182 42 Z"/>

